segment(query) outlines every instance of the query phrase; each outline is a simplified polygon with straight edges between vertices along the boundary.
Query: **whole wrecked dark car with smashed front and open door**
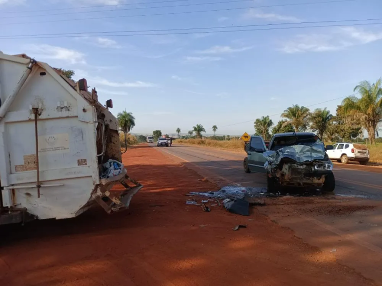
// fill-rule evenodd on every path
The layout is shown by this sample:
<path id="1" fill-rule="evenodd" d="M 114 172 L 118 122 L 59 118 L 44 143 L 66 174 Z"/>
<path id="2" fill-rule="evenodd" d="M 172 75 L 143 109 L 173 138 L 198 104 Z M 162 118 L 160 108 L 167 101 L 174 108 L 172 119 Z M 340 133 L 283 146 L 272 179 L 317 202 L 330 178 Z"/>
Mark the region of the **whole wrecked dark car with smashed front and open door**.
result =
<path id="1" fill-rule="evenodd" d="M 319 188 L 333 192 L 333 163 L 317 135 L 308 132 L 275 134 L 268 148 L 260 136 L 251 136 L 245 151 L 244 171 L 265 173 L 267 190 L 274 193 L 284 187 Z"/>

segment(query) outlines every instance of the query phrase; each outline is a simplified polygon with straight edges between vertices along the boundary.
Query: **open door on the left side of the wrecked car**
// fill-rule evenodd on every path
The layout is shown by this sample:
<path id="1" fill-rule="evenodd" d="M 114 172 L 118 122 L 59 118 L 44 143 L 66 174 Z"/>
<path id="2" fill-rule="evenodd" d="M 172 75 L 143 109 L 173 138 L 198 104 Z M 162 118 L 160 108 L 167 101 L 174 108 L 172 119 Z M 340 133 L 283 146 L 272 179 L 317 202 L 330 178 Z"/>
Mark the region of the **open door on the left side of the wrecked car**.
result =
<path id="1" fill-rule="evenodd" d="M 265 173 L 264 163 L 266 161 L 263 153 L 266 151 L 263 138 L 252 136 L 248 151 L 248 167 L 251 171 Z"/>

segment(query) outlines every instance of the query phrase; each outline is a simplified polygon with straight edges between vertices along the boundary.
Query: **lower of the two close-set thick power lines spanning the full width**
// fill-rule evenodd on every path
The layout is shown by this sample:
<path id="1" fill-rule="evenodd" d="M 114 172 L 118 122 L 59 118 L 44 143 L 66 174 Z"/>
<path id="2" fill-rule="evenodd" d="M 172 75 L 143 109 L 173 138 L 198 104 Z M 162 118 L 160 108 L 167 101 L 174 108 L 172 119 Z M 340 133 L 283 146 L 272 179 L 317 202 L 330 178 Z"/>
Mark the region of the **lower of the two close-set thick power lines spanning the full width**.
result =
<path id="1" fill-rule="evenodd" d="M 342 26 L 363 26 L 363 25 L 379 25 L 378 23 L 363 24 L 339 24 L 339 25 L 317 25 L 317 26 L 298 26 L 298 27 L 277 27 L 263 29 L 247 29 L 247 30 L 230 30 L 230 31 L 199 31 L 199 32 L 183 32 L 183 33 L 156 33 L 156 34 L 129 34 L 129 35 L 102 35 L 102 37 L 131 37 L 131 36 L 163 36 L 163 35 L 189 35 L 189 34 L 214 34 L 214 33 L 233 33 L 233 32 L 251 32 L 251 31 L 271 31 L 271 30 L 293 30 L 299 28 L 320 28 L 320 27 L 342 27 Z M 3 37 L 4 39 L 53 39 L 53 38 L 78 38 L 78 37 L 99 37 L 100 35 L 77 35 L 77 36 L 52 36 L 52 37 Z"/>

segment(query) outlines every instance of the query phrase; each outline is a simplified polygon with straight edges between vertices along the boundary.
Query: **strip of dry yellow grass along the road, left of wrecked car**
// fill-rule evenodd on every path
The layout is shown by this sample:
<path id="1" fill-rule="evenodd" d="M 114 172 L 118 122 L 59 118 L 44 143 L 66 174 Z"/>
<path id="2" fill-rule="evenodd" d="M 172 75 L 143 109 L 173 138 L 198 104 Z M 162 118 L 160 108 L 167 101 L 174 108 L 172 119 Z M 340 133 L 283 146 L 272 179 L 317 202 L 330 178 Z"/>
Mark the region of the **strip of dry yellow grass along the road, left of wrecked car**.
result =
<path id="1" fill-rule="evenodd" d="M 213 139 L 176 139 L 175 144 L 181 145 L 197 145 L 213 147 L 218 149 L 226 149 L 232 151 L 244 151 L 244 141 L 241 139 L 231 139 L 231 140 L 213 140 Z"/>

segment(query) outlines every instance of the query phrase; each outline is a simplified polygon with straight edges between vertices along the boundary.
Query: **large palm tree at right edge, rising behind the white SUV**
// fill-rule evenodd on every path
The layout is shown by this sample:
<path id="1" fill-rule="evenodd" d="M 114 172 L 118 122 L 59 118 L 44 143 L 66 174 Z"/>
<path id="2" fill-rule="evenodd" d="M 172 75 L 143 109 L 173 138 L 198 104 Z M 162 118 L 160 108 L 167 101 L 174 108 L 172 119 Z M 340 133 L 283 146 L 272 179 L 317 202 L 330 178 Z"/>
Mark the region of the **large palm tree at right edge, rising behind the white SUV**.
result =
<path id="1" fill-rule="evenodd" d="M 350 120 L 359 120 L 363 128 L 366 129 L 370 144 L 375 144 L 375 132 L 378 123 L 382 120 L 382 78 L 375 83 L 361 81 L 354 88 L 361 98 L 349 96 L 342 102 L 343 111 Z"/>

